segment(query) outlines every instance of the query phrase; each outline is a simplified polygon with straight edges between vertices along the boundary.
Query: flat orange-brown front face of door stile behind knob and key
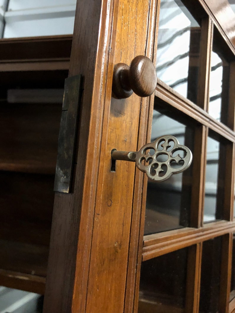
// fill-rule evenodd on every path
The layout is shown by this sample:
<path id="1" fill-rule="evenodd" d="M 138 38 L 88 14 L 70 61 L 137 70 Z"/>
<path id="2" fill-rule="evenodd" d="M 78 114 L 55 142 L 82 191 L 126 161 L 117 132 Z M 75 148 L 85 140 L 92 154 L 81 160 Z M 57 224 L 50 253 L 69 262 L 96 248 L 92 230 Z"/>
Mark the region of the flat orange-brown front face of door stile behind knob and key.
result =
<path id="1" fill-rule="evenodd" d="M 150 38 L 148 40 L 148 36 L 152 35 L 155 27 L 152 21 L 149 22 L 152 18 L 150 14 L 153 13 L 149 8 L 155 1 L 134 1 L 131 7 L 122 3 L 124 2 L 119 1 L 117 32 L 116 38 L 113 38 L 116 44 L 114 64 L 130 64 L 136 55 L 153 55 L 154 41 Z M 129 28 L 128 32 L 125 27 Z M 150 45 L 148 48 L 144 44 L 146 41 L 147 47 Z M 107 93 L 106 105 L 110 113 L 103 125 L 102 134 L 103 164 L 98 176 L 98 186 L 102 188 L 97 191 L 87 312 L 92 307 L 97 307 L 97 312 L 114 312 L 117 308 L 124 310 L 135 167 L 129 162 L 116 161 L 116 171 L 110 172 L 110 152 L 113 148 L 126 151 L 138 148 L 140 115 L 142 110 L 149 111 L 149 99 L 142 100 L 133 94 L 128 99 L 117 100 L 110 99 L 108 95 L 111 92 Z M 153 101 L 153 97 L 150 99 Z M 144 116 L 146 112 L 143 112 Z M 104 238 L 107 249 L 103 246 Z M 109 301 L 102 302 L 101 299 L 107 298 L 107 295 Z"/>

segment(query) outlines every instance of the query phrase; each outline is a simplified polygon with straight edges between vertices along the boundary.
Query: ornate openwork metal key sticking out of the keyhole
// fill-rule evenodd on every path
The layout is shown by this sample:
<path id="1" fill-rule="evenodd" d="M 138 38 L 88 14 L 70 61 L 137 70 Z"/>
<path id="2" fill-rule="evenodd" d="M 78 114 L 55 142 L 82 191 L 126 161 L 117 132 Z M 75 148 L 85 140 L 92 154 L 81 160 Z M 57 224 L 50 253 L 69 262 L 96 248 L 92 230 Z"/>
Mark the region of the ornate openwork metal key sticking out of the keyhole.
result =
<path id="1" fill-rule="evenodd" d="M 180 156 L 180 151 L 183 151 L 183 156 Z M 185 171 L 192 162 L 190 149 L 180 145 L 179 141 L 170 135 L 158 137 L 137 152 L 113 149 L 111 156 L 113 160 L 135 162 L 140 171 L 145 172 L 149 179 L 157 182 Z"/>

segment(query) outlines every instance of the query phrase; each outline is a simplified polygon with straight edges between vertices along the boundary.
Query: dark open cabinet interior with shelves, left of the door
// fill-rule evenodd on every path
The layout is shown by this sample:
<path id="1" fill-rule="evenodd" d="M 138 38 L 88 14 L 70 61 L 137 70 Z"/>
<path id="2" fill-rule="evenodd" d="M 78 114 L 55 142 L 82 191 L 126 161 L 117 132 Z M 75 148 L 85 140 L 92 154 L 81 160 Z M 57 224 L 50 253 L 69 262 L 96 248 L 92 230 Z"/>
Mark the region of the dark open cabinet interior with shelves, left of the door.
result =
<path id="1" fill-rule="evenodd" d="M 72 36 L 0 42 L 0 285 L 43 294 Z"/>

